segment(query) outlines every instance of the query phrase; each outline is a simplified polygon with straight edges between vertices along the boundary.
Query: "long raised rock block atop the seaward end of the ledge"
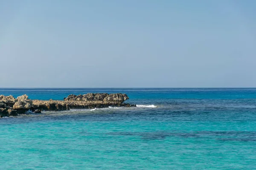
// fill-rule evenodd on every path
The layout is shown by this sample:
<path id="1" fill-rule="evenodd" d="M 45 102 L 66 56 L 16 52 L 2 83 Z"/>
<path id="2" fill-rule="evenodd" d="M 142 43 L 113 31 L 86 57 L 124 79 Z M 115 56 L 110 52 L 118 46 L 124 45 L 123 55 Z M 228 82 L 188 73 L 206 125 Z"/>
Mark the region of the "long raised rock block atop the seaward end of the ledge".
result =
<path id="1" fill-rule="evenodd" d="M 67 98 L 64 98 L 65 101 L 104 101 L 104 102 L 119 102 L 122 103 L 125 100 L 129 99 L 126 94 L 107 94 L 107 93 L 88 93 L 84 95 L 74 95 L 70 94 Z"/>

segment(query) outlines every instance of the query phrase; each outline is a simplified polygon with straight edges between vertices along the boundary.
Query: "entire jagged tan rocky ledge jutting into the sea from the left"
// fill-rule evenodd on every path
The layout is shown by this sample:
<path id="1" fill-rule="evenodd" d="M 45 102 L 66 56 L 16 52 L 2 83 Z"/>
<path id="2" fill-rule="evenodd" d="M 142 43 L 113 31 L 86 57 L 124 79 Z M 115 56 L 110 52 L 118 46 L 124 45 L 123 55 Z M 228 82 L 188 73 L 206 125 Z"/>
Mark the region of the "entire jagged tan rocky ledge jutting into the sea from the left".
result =
<path id="1" fill-rule="evenodd" d="M 129 99 L 126 94 L 93 94 L 84 95 L 70 94 L 64 100 L 31 100 L 26 94 L 18 96 L 0 95 L 0 117 L 17 116 L 18 114 L 31 111 L 33 113 L 41 113 L 41 111 L 67 111 L 70 109 L 93 109 L 107 108 L 109 106 L 117 107 L 136 107 L 123 103 Z"/>

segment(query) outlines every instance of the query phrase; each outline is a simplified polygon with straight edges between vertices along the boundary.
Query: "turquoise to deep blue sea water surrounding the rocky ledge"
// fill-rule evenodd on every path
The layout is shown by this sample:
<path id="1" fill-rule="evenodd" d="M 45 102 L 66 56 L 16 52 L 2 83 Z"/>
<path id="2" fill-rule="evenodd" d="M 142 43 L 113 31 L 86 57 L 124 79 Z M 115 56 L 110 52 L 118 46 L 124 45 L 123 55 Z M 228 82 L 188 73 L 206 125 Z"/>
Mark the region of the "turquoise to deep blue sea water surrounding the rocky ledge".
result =
<path id="1" fill-rule="evenodd" d="M 126 93 L 136 108 L 0 119 L 0 170 L 256 169 L 256 88 L 8 89 L 63 99 Z"/>

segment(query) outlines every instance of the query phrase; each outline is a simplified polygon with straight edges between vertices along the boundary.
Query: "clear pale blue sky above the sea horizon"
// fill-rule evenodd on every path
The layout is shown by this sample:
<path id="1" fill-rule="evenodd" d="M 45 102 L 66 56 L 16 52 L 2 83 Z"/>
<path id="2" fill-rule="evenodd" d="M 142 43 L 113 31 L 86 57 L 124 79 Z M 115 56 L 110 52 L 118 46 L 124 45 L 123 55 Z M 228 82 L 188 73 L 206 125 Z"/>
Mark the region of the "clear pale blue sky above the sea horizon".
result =
<path id="1" fill-rule="evenodd" d="M 0 0 L 0 88 L 256 87 L 255 0 Z"/>

